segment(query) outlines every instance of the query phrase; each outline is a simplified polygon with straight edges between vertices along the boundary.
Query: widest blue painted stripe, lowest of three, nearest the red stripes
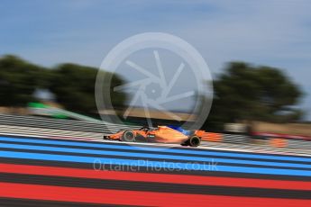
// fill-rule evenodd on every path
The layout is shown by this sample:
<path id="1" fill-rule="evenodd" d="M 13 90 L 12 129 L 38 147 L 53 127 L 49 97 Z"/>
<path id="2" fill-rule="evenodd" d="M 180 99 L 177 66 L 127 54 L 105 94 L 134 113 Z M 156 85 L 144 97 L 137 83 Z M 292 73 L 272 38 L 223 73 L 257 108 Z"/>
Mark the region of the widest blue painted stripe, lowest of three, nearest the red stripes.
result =
<path id="1" fill-rule="evenodd" d="M 250 173 L 250 174 L 265 174 L 265 175 L 298 175 L 298 176 L 311 176 L 309 170 L 293 170 L 293 169 L 278 169 L 278 168 L 264 168 L 264 167 L 247 167 L 247 166 L 211 166 L 197 163 L 178 163 L 166 161 L 149 161 L 149 160 L 129 160 L 122 158 L 98 158 L 98 157 L 81 157 L 81 156 L 65 156 L 65 155 L 49 155 L 42 153 L 29 153 L 29 152 L 12 152 L 0 151 L 0 157 L 11 158 L 27 158 L 37 160 L 50 160 L 50 161 L 63 161 L 63 162 L 77 162 L 77 163 L 96 163 L 105 165 L 105 169 L 109 169 L 111 165 L 120 166 L 146 166 L 149 169 L 166 168 L 179 169 L 179 170 L 202 170 L 202 171 L 221 171 L 233 173 Z M 96 165 L 95 165 L 96 166 Z"/>

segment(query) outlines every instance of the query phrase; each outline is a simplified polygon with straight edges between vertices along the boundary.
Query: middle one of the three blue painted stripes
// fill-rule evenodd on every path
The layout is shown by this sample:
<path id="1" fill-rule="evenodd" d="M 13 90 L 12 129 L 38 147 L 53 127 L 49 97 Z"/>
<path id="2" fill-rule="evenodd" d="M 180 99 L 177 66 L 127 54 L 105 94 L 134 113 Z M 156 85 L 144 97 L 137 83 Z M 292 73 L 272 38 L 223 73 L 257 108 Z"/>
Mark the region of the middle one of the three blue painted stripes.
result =
<path id="1" fill-rule="evenodd" d="M 285 167 L 301 167 L 301 168 L 311 169 L 311 165 L 305 165 L 305 164 L 253 161 L 253 160 L 242 160 L 242 159 L 188 157 L 188 156 L 136 153 L 136 152 L 128 152 L 128 151 L 123 152 L 123 151 L 105 151 L 105 150 L 85 149 L 85 148 L 57 148 L 57 147 L 5 144 L 5 143 L 0 143 L 0 147 L 1 148 L 31 149 L 31 150 L 47 150 L 47 151 L 53 151 L 53 152 L 72 152 L 72 153 L 83 153 L 83 154 L 104 155 L 104 156 L 175 159 L 175 160 L 199 161 L 199 162 L 207 162 L 207 163 L 214 161 L 214 162 L 220 162 L 220 163 L 233 163 L 233 164 L 242 164 L 242 165 L 285 166 Z"/>

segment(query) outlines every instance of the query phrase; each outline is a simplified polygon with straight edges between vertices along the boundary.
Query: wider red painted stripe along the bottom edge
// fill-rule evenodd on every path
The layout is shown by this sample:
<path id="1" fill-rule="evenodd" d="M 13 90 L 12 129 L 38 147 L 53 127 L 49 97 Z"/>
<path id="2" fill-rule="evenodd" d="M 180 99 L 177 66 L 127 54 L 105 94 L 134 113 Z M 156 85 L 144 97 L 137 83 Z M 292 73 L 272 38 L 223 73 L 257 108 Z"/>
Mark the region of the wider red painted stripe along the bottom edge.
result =
<path id="1" fill-rule="evenodd" d="M 203 195 L 187 193 L 153 193 L 59 187 L 39 184 L 0 183 L 1 197 L 152 206 L 310 206 L 309 200 Z"/>

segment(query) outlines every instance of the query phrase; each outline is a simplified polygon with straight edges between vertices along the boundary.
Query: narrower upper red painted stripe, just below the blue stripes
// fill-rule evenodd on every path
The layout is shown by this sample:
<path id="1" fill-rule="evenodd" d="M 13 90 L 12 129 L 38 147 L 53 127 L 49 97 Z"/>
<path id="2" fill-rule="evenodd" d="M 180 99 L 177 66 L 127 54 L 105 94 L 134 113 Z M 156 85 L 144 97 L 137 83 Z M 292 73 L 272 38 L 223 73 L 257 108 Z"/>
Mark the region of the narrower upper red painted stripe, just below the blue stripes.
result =
<path id="1" fill-rule="evenodd" d="M 142 181 L 171 184 L 205 184 L 238 187 L 311 190 L 311 182 L 304 181 L 266 180 L 199 175 L 148 174 L 122 171 L 78 169 L 56 166 L 26 166 L 14 164 L 0 164 L 0 172 L 14 174 L 56 175 L 96 179 L 127 180 L 136 182 Z"/>

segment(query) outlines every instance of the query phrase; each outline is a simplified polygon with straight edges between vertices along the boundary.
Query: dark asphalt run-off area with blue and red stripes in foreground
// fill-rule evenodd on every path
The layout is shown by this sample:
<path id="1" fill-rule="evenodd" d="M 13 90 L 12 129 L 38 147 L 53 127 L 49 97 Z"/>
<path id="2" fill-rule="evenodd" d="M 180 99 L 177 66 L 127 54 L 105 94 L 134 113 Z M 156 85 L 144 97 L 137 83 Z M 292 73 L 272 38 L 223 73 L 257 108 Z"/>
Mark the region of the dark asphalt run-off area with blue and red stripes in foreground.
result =
<path id="1" fill-rule="evenodd" d="M 311 157 L 0 136 L 1 206 L 310 206 Z"/>

